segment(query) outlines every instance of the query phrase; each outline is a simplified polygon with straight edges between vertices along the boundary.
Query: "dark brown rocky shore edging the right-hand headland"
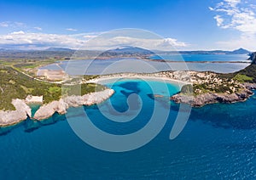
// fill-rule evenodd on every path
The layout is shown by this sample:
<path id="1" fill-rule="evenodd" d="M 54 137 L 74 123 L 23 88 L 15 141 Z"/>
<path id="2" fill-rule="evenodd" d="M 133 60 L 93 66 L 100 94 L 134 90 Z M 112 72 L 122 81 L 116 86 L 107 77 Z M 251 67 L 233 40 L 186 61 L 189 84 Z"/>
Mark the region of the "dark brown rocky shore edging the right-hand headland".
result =
<path id="1" fill-rule="evenodd" d="M 256 84 L 252 84 L 255 89 Z M 214 104 L 214 103 L 236 103 L 245 101 L 247 98 L 253 95 L 253 92 L 245 88 L 240 93 L 202 93 L 196 96 L 186 95 L 183 93 L 177 93 L 173 95 L 170 99 L 176 103 L 190 104 L 192 107 L 201 107 L 205 104 Z"/>

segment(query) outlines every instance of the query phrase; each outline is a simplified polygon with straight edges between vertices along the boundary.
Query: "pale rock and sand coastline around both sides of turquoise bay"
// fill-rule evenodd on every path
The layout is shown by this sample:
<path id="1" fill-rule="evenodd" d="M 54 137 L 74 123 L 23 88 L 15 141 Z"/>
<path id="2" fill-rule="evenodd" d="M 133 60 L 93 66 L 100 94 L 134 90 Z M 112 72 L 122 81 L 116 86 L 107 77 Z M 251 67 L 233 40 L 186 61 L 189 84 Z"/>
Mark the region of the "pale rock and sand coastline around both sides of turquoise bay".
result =
<path id="1" fill-rule="evenodd" d="M 238 83 L 238 90 L 233 93 L 200 93 L 196 96 L 189 95 L 182 92 L 182 87 L 184 85 L 191 85 L 193 87 L 194 83 L 204 83 L 206 81 L 212 81 L 217 84 L 224 83 L 223 80 L 213 72 L 197 72 L 197 71 L 162 71 L 157 73 L 119 73 L 113 75 L 104 75 L 96 77 L 95 79 L 89 80 L 83 83 L 109 83 L 115 82 L 116 80 L 122 79 L 139 79 L 145 81 L 157 81 L 164 83 L 177 84 L 180 87 L 180 92 L 169 97 L 170 100 L 176 103 L 189 104 L 192 107 L 201 107 L 205 104 L 215 104 L 215 103 L 236 103 L 247 100 L 253 95 L 251 90 L 256 89 L 255 83 Z M 226 83 L 226 82 L 225 82 Z M 234 82 L 232 82 L 234 83 Z M 235 87 L 234 87 L 235 88 Z M 82 105 L 92 105 L 100 104 L 104 100 L 110 98 L 114 93 L 113 89 L 105 89 L 102 92 L 88 93 L 83 96 L 67 96 L 62 97 L 59 100 L 50 102 L 49 104 L 43 104 L 43 97 L 28 95 L 26 99 L 14 99 L 12 104 L 15 106 L 15 110 L 0 110 L 0 127 L 8 127 L 19 123 L 20 121 L 25 121 L 27 117 L 32 120 L 41 121 L 48 119 L 50 116 L 54 115 L 55 112 L 59 114 L 66 114 L 69 107 L 78 107 Z M 157 96 L 158 94 L 154 94 Z M 159 97 L 161 98 L 161 97 Z M 42 103 L 39 109 L 32 115 L 32 109 L 29 104 Z"/>

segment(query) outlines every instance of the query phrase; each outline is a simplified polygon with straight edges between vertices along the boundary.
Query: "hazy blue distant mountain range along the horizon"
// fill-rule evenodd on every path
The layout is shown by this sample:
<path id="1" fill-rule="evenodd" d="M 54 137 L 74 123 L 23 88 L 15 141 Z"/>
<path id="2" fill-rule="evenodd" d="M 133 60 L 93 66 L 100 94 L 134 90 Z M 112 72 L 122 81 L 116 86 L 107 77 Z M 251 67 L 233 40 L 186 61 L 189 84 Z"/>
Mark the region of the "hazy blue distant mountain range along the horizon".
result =
<path id="1" fill-rule="evenodd" d="M 151 51 L 144 48 L 125 46 L 115 49 L 110 49 L 108 51 L 94 51 L 94 50 L 75 50 L 71 48 L 47 48 L 44 50 L 17 50 L 17 49 L 4 49 L 0 48 L 0 58 L 35 58 L 35 59 L 45 59 L 45 58 L 70 58 L 75 53 L 75 57 L 79 55 L 78 58 L 94 58 L 95 56 L 100 56 L 103 58 L 108 57 L 132 57 L 132 56 L 142 56 L 147 57 L 152 54 L 251 54 L 250 51 L 244 48 L 239 48 L 234 51 L 223 51 L 223 50 L 213 50 L 213 51 Z"/>

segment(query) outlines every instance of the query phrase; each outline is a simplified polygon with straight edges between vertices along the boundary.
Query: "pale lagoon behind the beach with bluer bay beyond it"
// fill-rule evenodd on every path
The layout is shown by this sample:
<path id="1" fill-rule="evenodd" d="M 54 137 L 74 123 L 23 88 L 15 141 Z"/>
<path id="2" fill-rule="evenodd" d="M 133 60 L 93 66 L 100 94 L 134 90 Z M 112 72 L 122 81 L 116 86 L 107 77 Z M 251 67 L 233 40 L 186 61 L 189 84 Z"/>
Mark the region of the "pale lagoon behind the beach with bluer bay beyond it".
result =
<path id="1" fill-rule="evenodd" d="M 60 66 L 58 67 L 56 67 L 57 65 L 47 65 L 42 67 L 42 69 L 55 70 L 61 67 L 70 75 L 102 75 L 120 72 L 150 73 L 164 70 L 211 70 L 220 73 L 230 73 L 244 69 L 249 65 L 246 54 L 183 54 L 182 56 L 166 55 L 163 57 L 171 60 L 167 62 L 157 62 L 127 58 L 108 60 L 73 59 L 59 62 Z M 152 59 L 154 59 L 154 57 L 152 57 Z M 173 60 L 181 62 L 172 62 Z M 191 63 L 190 61 L 195 62 Z M 202 63 L 202 61 L 204 61 L 204 63 Z M 216 61 L 221 61 L 222 63 Z M 233 63 L 230 63 L 232 61 Z M 234 61 L 247 63 L 235 63 Z"/>

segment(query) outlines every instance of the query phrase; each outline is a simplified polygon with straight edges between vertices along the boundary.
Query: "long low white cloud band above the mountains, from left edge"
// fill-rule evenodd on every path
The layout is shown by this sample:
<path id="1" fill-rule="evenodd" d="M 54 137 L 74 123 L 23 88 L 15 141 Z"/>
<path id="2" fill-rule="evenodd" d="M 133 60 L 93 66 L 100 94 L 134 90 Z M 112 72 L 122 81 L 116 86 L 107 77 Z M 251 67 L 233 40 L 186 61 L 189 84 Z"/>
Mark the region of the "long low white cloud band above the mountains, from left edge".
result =
<path id="1" fill-rule="evenodd" d="M 96 33 L 84 33 L 74 35 L 57 35 L 44 33 L 31 33 L 24 31 L 14 31 L 7 35 L 0 35 L 0 45 L 2 47 L 15 48 L 80 48 L 91 50 L 108 50 L 119 48 L 120 46 L 136 46 L 148 49 L 174 50 L 189 46 L 185 42 L 179 42 L 173 38 L 148 38 L 148 37 L 129 37 L 115 36 L 96 36 Z"/>

